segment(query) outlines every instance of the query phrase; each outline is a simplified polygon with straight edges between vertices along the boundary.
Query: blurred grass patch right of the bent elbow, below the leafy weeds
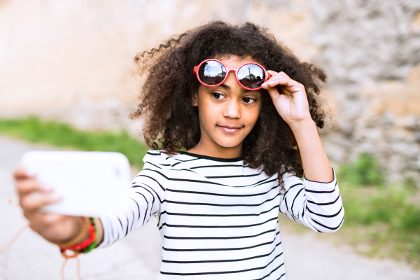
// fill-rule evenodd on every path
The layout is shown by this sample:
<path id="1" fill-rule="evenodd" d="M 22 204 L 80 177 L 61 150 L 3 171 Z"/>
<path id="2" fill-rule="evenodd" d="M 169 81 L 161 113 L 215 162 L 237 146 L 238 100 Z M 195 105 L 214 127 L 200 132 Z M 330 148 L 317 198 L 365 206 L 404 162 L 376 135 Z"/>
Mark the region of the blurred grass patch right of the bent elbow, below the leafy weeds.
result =
<path id="1" fill-rule="evenodd" d="M 339 179 L 339 178 L 338 178 Z M 399 256 L 420 265 L 420 207 L 400 186 L 360 187 L 340 183 L 345 220 L 353 242 L 369 245 L 370 255 Z"/>

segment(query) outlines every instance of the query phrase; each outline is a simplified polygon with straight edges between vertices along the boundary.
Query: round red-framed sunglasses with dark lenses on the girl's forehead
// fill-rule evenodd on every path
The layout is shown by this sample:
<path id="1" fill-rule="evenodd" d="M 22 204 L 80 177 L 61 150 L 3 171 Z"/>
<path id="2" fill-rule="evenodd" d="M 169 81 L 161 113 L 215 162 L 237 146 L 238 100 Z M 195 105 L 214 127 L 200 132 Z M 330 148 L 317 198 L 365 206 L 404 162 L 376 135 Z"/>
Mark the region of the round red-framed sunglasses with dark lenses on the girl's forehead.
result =
<path id="1" fill-rule="evenodd" d="M 193 75 L 202 85 L 217 87 L 225 82 L 230 71 L 235 71 L 237 81 L 246 90 L 259 90 L 270 75 L 260 64 L 250 62 L 242 64 L 238 68 L 227 67 L 217 59 L 206 59 L 194 67 Z"/>

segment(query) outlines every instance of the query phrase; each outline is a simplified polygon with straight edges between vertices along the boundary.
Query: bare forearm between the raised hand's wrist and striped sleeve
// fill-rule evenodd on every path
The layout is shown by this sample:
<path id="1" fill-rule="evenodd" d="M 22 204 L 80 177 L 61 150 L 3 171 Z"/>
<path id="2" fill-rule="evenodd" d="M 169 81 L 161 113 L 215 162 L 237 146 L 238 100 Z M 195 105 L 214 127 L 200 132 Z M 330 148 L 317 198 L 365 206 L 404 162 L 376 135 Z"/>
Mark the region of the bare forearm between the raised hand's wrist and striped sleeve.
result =
<path id="1" fill-rule="evenodd" d="M 290 128 L 299 147 L 305 178 L 324 183 L 332 181 L 334 179 L 332 168 L 314 120 L 304 120 L 291 125 Z"/>

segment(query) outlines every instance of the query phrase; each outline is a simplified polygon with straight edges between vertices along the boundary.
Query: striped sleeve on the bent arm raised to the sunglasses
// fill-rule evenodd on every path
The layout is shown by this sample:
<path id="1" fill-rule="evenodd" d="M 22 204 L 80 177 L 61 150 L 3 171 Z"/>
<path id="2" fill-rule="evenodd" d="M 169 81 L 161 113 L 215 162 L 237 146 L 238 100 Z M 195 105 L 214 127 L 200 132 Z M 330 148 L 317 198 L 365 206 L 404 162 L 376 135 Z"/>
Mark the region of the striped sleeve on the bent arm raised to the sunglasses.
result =
<path id="1" fill-rule="evenodd" d="M 317 232 L 335 232 L 344 221 L 344 208 L 335 177 L 329 183 L 283 176 L 285 191 L 280 212 Z"/>

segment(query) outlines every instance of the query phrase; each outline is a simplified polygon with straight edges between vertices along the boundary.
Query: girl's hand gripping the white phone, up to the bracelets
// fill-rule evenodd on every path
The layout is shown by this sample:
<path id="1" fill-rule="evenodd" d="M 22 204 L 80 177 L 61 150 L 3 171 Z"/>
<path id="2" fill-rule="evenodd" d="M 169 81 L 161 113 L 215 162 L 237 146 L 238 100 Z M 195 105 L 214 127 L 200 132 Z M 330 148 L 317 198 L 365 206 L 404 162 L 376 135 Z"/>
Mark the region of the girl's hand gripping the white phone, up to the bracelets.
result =
<path id="1" fill-rule="evenodd" d="M 32 230 L 49 241 L 67 241 L 80 233 L 83 218 L 41 211 L 41 207 L 61 200 L 52 188 L 37 181 L 36 176 L 28 174 L 23 167 L 16 169 L 14 176 L 20 207 Z"/>

